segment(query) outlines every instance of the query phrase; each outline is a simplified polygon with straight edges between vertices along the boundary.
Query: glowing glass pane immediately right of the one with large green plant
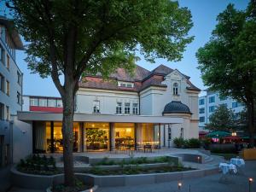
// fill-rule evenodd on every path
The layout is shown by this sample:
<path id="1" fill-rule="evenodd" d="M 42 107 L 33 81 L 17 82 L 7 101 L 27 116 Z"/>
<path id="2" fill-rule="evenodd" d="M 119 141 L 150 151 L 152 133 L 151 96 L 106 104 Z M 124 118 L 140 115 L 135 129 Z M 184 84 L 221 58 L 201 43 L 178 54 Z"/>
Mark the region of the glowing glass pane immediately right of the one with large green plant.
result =
<path id="1" fill-rule="evenodd" d="M 134 124 L 115 123 L 115 148 L 128 149 L 134 146 Z"/>

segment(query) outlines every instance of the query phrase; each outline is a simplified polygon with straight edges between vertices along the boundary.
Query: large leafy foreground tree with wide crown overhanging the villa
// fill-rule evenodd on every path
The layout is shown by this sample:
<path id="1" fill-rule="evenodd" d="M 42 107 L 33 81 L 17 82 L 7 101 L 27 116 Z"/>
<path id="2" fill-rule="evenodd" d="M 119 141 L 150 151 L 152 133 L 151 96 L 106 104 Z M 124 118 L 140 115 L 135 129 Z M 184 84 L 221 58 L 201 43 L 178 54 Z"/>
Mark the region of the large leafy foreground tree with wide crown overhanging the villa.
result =
<path id="1" fill-rule="evenodd" d="M 84 73 L 130 73 L 139 51 L 147 61 L 179 61 L 193 37 L 188 9 L 170 0 L 9 0 L 15 26 L 29 44 L 28 67 L 51 76 L 63 102 L 65 183 L 73 185 L 74 96 Z M 64 80 L 61 83 L 60 76 Z"/>

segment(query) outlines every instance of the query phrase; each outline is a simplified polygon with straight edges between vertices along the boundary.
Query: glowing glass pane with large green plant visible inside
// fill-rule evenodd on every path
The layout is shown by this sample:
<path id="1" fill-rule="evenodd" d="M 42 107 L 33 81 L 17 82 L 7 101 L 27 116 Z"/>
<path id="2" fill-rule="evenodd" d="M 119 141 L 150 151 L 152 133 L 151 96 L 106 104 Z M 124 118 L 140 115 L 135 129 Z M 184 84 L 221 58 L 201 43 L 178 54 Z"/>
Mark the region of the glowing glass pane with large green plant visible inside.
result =
<path id="1" fill-rule="evenodd" d="M 84 123 L 86 149 L 90 150 L 108 150 L 108 123 Z"/>

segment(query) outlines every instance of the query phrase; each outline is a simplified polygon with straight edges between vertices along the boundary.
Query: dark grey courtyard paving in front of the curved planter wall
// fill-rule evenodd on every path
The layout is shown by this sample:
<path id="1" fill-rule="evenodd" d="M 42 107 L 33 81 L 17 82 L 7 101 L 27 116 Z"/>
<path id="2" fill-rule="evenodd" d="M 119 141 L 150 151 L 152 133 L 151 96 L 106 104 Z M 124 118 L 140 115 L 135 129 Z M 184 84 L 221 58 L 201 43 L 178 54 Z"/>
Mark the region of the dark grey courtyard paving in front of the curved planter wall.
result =
<path id="1" fill-rule="evenodd" d="M 177 189 L 177 181 L 169 183 L 157 183 L 138 185 L 131 187 L 99 188 L 96 192 L 248 192 L 248 177 L 253 177 L 251 192 L 256 191 L 256 160 L 247 160 L 245 175 L 232 175 L 228 182 L 218 183 L 221 174 L 207 177 L 185 179 L 182 189 Z M 13 188 L 10 192 L 43 192 L 40 190 L 28 190 Z"/>

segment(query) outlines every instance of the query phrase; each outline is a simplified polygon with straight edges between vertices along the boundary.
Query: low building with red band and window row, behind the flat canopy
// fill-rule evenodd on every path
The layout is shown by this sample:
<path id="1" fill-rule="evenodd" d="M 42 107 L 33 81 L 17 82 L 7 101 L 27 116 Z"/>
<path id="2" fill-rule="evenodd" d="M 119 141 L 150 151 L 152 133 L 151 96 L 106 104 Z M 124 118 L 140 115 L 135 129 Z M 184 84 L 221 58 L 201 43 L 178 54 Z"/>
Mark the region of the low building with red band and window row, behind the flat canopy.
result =
<path id="1" fill-rule="evenodd" d="M 62 113 L 61 97 L 22 96 L 22 111 Z"/>

